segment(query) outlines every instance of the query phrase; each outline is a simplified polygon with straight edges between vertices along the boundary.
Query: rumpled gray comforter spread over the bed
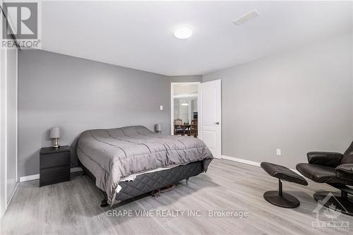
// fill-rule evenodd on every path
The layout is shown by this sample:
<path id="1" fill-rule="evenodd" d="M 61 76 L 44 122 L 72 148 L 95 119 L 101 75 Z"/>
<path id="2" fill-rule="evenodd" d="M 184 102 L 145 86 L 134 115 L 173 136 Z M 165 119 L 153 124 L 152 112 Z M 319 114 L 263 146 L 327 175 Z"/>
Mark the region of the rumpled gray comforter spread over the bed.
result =
<path id="1" fill-rule="evenodd" d="M 144 126 L 88 130 L 78 139 L 80 162 L 92 172 L 98 188 L 114 202 L 121 179 L 141 173 L 203 160 L 206 171 L 213 159 L 203 141 L 189 136 L 157 135 Z"/>

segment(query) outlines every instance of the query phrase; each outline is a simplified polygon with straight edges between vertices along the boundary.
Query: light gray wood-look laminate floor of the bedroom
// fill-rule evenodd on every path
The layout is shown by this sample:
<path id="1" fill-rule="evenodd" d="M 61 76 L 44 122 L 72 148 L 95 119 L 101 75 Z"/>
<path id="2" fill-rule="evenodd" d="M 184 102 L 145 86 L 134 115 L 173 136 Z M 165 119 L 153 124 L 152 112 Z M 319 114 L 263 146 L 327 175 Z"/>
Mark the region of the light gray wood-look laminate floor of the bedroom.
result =
<path id="1" fill-rule="evenodd" d="M 312 181 L 309 186 L 285 182 L 284 191 L 295 195 L 301 205 L 295 209 L 275 207 L 263 199 L 263 193 L 276 190 L 277 179 L 261 168 L 225 159 L 215 159 L 207 174 L 195 176 L 187 184 L 182 181 L 174 191 L 160 197 L 145 195 L 103 209 L 102 194 L 88 176 L 72 178 L 70 182 L 42 188 L 39 181 L 20 183 L 1 220 L 1 234 L 273 235 L 352 234 L 353 231 L 353 217 L 342 214 L 336 220 L 348 222 L 348 231 L 325 231 L 312 226 L 316 222 L 313 210 L 318 205 L 313 192 L 333 190 L 330 186 Z M 173 214 L 168 215 L 168 210 Z M 225 214 L 210 217 L 209 210 L 246 211 L 248 217 L 225 217 Z M 122 216 L 124 212 L 131 215 Z M 138 212 L 145 212 L 145 217 L 137 216 Z"/>

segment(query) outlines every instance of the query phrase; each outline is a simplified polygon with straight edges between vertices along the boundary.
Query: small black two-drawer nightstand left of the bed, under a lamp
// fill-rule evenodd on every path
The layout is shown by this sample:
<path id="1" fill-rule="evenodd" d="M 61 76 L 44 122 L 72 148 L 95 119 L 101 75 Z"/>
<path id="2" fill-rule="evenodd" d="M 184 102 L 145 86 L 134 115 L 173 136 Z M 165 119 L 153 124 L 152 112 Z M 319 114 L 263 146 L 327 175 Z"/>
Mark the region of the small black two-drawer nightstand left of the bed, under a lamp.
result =
<path id="1" fill-rule="evenodd" d="M 40 149 L 40 187 L 70 181 L 70 147 Z"/>

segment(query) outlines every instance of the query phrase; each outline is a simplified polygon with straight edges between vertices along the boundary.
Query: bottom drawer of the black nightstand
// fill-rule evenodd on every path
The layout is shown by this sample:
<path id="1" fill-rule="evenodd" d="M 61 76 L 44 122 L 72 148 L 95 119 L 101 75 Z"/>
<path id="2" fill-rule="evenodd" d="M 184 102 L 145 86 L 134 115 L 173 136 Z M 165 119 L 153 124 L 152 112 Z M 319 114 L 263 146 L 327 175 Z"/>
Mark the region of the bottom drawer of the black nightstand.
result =
<path id="1" fill-rule="evenodd" d="M 70 180 L 70 165 L 40 170 L 40 186 Z"/>

